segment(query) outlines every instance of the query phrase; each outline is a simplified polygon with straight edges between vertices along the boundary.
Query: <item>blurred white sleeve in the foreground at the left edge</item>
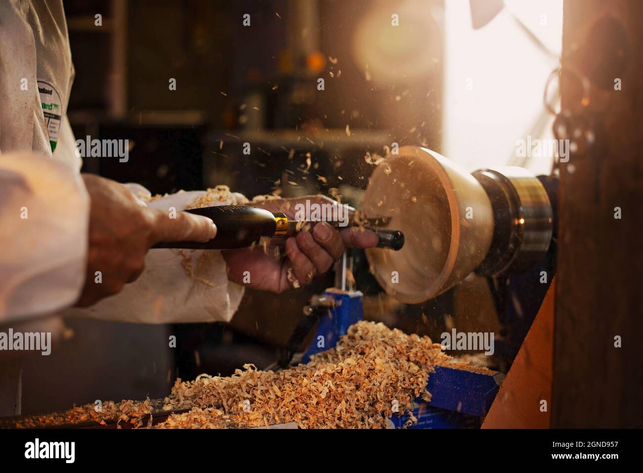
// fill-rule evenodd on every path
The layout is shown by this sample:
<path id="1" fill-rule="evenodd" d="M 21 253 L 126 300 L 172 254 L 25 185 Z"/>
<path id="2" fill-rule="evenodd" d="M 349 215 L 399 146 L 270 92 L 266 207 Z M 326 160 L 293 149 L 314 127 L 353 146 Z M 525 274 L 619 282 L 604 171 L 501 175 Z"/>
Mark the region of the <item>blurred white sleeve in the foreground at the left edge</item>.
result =
<path id="1" fill-rule="evenodd" d="M 77 301 L 88 219 L 75 170 L 31 152 L 0 154 L 0 324 Z"/>

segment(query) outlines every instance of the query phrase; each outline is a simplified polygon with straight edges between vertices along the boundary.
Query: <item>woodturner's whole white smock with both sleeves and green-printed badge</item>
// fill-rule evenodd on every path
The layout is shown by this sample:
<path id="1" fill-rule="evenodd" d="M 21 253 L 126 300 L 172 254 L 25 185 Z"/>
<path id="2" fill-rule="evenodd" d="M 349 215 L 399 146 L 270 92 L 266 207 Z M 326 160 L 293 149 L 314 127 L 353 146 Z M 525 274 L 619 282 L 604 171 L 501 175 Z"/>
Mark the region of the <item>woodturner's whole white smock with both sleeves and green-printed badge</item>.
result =
<path id="1" fill-rule="evenodd" d="M 62 1 L 0 0 L 0 331 L 26 324 L 33 330 L 39 320 L 54 331 L 62 325 L 57 315 L 150 324 L 229 321 L 243 288 L 228 281 L 220 252 L 206 259 L 190 253 L 195 274 L 211 286 L 186 275 L 183 255 L 152 250 L 138 281 L 91 308 L 70 308 L 84 284 L 89 216 L 66 116 L 73 78 Z M 150 205 L 181 210 L 196 195 Z M 235 202 L 233 196 L 221 205 Z M 5 356 L 3 363 L 3 355 L 0 415 L 7 415 L 19 410 L 19 396 L 15 403 L 7 399 L 16 398 L 20 367 L 15 358 Z"/>

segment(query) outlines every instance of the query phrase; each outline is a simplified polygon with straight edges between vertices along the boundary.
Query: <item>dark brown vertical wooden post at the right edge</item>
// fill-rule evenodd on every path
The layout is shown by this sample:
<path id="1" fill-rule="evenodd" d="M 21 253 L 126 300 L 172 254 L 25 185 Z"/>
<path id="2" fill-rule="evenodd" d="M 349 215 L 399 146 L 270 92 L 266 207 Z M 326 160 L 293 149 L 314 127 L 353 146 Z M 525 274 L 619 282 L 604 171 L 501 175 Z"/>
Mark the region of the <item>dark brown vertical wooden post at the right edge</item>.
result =
<path id="1" fill-rule="evenodd" d="M 642 58 L 643 1 L 565 0 L 563 68 L 604 131 L 561 163 L 552 427 L 643 427 Z"/>

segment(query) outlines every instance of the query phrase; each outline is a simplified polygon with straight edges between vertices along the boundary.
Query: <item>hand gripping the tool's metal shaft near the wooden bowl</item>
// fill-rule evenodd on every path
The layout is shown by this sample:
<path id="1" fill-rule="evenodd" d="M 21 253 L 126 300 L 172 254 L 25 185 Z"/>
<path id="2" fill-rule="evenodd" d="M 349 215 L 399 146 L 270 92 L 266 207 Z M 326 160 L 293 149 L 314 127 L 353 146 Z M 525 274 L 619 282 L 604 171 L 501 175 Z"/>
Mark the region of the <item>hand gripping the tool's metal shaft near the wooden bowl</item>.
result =
<path id="1" fill-rule="evenodd" d="M 307 196 L 297 199 L 278 199 L 253 203 L 270 212 L 284 212 L 294 219 L 295 205 L 309 200 L 311 203 L 337 206 L 338 203 L 323 196 Z M 349 216 L 354 212 L 347 207 Z M 311 231 L 300 232 L 285 242 L 285 257 L 275 259 L 263 252 L 261 246 L 222 252 L 228 263 L 231 281 L 244 284 L 244 272 L 250 274 L 250 283 L 244 284 L 255 289 L 282 292 L 307 284 L 316 274 L 327 272 L 334 261 L 344 252 L 346 246 L 370 248 L 377 245 L 377 236 L 363 228 L 347 227 L 339 230 L 328 223 L 316 223 Z"/>

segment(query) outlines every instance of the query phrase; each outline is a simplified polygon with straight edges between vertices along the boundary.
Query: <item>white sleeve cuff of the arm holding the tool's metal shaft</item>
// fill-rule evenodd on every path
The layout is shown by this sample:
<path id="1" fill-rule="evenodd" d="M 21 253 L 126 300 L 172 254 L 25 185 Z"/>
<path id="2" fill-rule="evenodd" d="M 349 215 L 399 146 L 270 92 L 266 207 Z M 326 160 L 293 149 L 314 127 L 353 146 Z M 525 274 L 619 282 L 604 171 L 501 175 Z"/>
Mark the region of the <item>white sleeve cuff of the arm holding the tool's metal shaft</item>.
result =
<path id="1" fill-rule="evenodd" d="M 128 187 L 136 196 L 149 196 L 141 185 Z M 178 192 L 147 205 L 164 210 L 175 207 L 179 211 L 203 194 L 202 191 Z M 230 197 L 218 205 L 244 199 L 240 194 Z M 71 308 L 66 316 L 141 324 L 229 322 L 243 292 L 242 286 L 228 281 L 226 262 L 220 251 L 156 249 L 147 253 L 145 270 L 134 283 L 126 284 L 120 293 L 89 308 Z"/>

